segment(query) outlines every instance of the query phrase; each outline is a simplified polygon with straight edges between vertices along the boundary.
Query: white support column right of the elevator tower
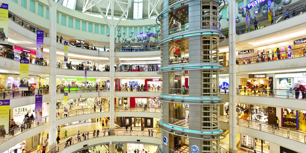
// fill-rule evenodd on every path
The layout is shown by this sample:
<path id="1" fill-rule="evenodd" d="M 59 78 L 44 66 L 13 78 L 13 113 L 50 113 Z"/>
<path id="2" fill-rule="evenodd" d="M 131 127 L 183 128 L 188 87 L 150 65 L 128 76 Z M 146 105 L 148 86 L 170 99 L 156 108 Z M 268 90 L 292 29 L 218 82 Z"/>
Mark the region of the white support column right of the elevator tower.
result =
<path id="1" fill-rule="evenodd" d="M 237 153 L 236 136 L 236 1 L 231 0 L 229 3 L 229 78 L 230 78 L 230 153 Z"/>

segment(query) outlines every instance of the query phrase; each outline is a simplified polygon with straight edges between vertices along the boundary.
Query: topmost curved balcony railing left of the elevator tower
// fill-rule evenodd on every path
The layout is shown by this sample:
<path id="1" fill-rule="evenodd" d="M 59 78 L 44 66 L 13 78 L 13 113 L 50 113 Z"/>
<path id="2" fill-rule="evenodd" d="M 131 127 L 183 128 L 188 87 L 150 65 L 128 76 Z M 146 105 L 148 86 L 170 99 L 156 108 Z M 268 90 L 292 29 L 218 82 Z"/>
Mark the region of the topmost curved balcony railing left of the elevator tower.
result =
<path id="1" fill-rule="evenodd" d="M 35 33 L 41 29 L 29 24 L 28 22 L 22 20 L 21 18 L 15 16 L 12 12 L 9 12 L 9 19 L 14 21 L 15 23 L 19 24 L 20 26 L 30 30 L 31 32 Z M 49 37 L 49 33 L 43 32 L 43 37 Z M 99 47 L 99 46 L 94 46 L 90 44 L 85 44 L 81 42 L 76 42 L 76 41 L 69 41 L 65 39 L 60 39 L 57 38 L 56 40 L 57 43 L 64 44 L 64 42 L 68 42 L 68 45 L 71 47 L 77 47 L 77 48 L 83 48 L 83 49 L 88 49 L 88 50 L 97 50 L 97 51 L 110 51 L 109 47 Z M 120 48 L 115 48 L 115 52 L 138 52 L 138 51 L 155 51 L 156 45 L 151 45 L 151 47 L 146 48 L 146 47 L 120 47 Z"/>

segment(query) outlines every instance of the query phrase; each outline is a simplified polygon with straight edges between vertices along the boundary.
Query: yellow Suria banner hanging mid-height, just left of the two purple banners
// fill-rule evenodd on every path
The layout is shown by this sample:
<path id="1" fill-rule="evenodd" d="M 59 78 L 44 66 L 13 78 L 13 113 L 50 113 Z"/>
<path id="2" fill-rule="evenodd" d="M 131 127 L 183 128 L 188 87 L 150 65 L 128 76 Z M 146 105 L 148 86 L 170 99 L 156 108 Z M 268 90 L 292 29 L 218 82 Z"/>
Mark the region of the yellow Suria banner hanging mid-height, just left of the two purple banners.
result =
<path id="1" fill-rule="evenodd" d="M 28 90 L 29 85 L 29 60 L 28 59 L 21 59 L 20 60 L 20 84 L 19 84 L 19 90 Z"/>

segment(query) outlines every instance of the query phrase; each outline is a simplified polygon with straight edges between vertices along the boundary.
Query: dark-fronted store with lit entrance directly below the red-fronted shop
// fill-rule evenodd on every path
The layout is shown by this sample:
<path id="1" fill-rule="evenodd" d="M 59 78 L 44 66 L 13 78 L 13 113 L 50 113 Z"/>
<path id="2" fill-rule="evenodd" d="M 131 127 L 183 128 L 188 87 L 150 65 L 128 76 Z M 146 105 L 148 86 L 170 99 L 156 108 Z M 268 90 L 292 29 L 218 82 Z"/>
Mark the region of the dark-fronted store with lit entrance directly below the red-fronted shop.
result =
<path id="1" fill-rule="evenodd" d="M 144 128 L 155 128 L 159 118 L 143 118 L 143 117 L 115 117 L 115 124 L 119 127 L 141 127 L 144 123 Z"/>

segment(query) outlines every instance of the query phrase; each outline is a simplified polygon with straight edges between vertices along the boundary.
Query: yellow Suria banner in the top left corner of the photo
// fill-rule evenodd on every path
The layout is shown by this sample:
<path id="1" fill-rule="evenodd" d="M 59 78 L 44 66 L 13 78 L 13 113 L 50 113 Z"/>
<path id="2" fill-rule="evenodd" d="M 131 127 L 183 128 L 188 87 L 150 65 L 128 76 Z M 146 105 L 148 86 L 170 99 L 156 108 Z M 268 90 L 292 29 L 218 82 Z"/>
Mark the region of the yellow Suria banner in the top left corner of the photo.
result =
<path id="1" fill-rule="evenodd" d="M 8 44 L 9 35 L 9 5 L 2 3 L 0 6 L 0 43 Z"/>

